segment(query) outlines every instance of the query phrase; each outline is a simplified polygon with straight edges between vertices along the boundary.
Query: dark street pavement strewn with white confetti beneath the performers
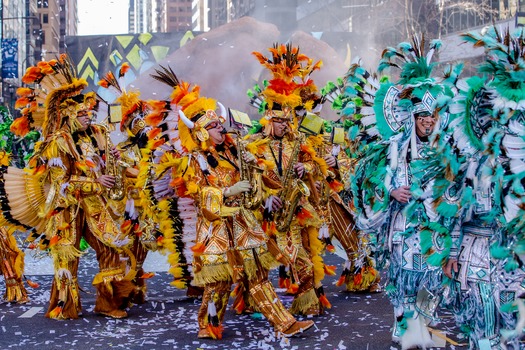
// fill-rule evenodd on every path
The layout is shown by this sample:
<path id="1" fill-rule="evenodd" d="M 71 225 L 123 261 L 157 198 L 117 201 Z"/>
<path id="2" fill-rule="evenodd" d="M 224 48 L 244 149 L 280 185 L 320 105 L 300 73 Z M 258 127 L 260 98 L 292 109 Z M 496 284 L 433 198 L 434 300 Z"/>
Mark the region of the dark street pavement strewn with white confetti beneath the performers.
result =
<path id="1" fill-rule="evenodd" d="M 329 264 L 343 262 L 328 255 Z M 332 308 L 313 317 L 315 326 L 293 338 L 281 338 L 260 314 L 236 315 L 228 310 L 222 340 L 197 338 L 199 301 L 170 286 L 166 257 L 150 254 L 146 271 L 155 272 L 148 280 L 147 303 L 135 305 L 126 319 L 111 319 L 93 313 L 95 289 L 91 280 L 96 273 L 92 250 L 81 258 L 79 283 L 83 315 L 78 320 L 57 321 L 44 317 L 52 280 L 49 258 L 26 256 L 26 276 L 38 282 L 29 288 L 31 301 L 24 305 L 0 304 L 0 349 L 400 349 L 391 341 L 393 314 L 385 293 L 350 293 L 335 286 L 336 276 L 327 276 L 324 289 Z M 276 274 L 271 279 L 276 283 Z M 278 290 L 284 304 L 291 297 Z M 231 302 L 230 302 L 231 305 Z M 466 349 L 457 345 L 457 329 L 450 314 L 440 314 L 434 349 Z M 449 341 L 443 338 L 448 337 Z M 461 343 L 461 341 L 459 341 Z M 464 343 L 464 341 L 463 341 Z"/>

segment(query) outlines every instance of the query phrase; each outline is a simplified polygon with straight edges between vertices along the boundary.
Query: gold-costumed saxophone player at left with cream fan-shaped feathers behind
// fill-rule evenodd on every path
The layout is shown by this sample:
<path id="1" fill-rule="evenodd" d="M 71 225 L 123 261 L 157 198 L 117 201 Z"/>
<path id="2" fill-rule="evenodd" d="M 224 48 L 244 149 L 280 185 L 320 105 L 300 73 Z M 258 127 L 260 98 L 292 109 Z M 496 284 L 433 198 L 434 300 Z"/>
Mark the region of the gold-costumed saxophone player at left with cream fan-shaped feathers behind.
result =
<path id="1" fill-rule="evenodd" d="M 87 83 L 78 79 L 66 55 L 30 67 L 22 81 L 31 87 L 17 91 L 22 117 L 11 130 L 24 135 L 31 128 L 41 130 L 26 172 L 8 168 L 3 174 L 4 215 L 12 225 L 31 228 L 28 240 L 53 258 L 55 276 L 46 317 L 76 319 L 81 312 L 77 280 L 80 240 L 95 250 L 99 273 L 95 312 L 113 318 L 126 317 L 127 298 L 133 291 L 133 271 L 126 274 L 120 254 L 131 240 L 108 205 L 108 192 L 115 176 L 105 174 L 118 153 L 107 143 L 104 129 L 90 125 L 94 94 L 82 95 Z M 34 85 L 33 85 L 34 84 Z M 20 182 L 24 185 L 20 187 Z M 24 188 L 20 193 L 20 188 Z M 37 213 L 38 215 L 35 215 Z"/>

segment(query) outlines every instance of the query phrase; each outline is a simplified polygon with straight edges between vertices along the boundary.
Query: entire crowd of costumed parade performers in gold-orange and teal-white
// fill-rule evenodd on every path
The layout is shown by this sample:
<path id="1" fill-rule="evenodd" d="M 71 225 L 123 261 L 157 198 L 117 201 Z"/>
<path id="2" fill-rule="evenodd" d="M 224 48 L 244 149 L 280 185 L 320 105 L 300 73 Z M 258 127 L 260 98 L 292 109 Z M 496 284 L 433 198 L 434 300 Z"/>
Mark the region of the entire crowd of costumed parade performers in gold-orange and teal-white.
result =
<path id="1" fill-rule="evenodd" d="M 253 52 L 267 79 L 244 103 L 259 120 L 170 66 L 152 74 L 169 98 L 142 100 L 121 62 L 99 82 L 114 101 L 87 91 L 66 54 L 28 68 L 10 132 L 40 137 L 24 169 L 1 151 L 5 300 L 29 300 L 23 234 L 23 248 L 53 259 L 51 319 L 79 318 L 87 247 L 94 312 L 112 318 L 146 302 L 143 263 L 160 251 L 171 284 L 200 300 L 198 338 L 222 338 L 229 304 L 284 337 L 303 333 L 315 323 L 305 316 L 331 307 L 323 279 L 338 269 L 337 286 L 386 293 L 402 349 L 432 347 L 427 326 L 443 309 L 471 349 L 524 348 L 525 33 L 462 38 L 485 50 L 471 76 L 461 62 L 437 65 L 441 42 L 414 35 L 376 69 L 357 59 L 324 87 L 313 80 L 322 62 L 293 43 Z M 336 251 L 344 264 L 325 264 Z"/>

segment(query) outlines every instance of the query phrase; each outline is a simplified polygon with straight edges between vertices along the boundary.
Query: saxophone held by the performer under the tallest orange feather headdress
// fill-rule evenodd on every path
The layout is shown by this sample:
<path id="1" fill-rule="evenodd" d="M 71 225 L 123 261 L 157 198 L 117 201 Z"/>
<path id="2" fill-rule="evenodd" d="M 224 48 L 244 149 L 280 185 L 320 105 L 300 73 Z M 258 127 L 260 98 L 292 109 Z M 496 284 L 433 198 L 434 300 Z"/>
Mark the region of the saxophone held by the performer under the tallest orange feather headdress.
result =
<path id="1" fill-rule="evenodd" d="M 299 137 L 295 140 L 288 167 L 282 177 L 281 184 L 283 189 L 279 193 L 279 198 L 281 198 L 283 202 L 283 207 L 274 216 L 274 221 L 279 232 L 288 231 L 301 197 L 308 197 L 310 195 L 310 189 L 306 183 L 301 179 L 298 179 L 293 170 L 297 158 L 299 157 L 302 143 L 304 143 L 304 135 L 299 134 Z"/>

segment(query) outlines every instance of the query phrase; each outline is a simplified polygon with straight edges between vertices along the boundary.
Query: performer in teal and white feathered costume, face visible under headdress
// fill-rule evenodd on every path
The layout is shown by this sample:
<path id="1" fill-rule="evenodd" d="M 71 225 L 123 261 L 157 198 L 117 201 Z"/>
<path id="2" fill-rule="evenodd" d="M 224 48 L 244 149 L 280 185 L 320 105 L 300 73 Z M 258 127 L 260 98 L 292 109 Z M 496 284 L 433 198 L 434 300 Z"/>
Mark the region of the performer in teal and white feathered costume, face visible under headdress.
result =
<path id="1" fill-rule="evenodd" d="M 378 84 L 356 65 L 351 68 L 356 83 L 348 89 L 354 91 L 350 100 L 359 131 L 354 135 L 367 143 L 349 181 L 357 223 L 377 235 L 378 250 L 389 264 L 392 340 L 403 349 L 433 344 L 426 323 L 436 321 L 442 288 L 441 269 L 429 264 L 425 246 L 436 235 L 432 223 L 438 220 L 431 191 L 434 173 L 425 157 L 432 152 L 432 134 L 447 121 L 440 103 L 453 96 L 448 85 L 431 76 L 431 57 L 439 45 L 433 41 L 427 54 L 424 39 L 414 37 L 412 44 L 387 48 L 379 71 L 400 68 L 400 79 Z M 373 95 L 373 104 L 364 103 L 362 94 Z"/>

